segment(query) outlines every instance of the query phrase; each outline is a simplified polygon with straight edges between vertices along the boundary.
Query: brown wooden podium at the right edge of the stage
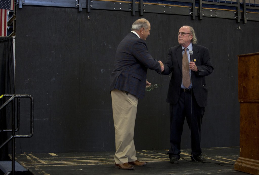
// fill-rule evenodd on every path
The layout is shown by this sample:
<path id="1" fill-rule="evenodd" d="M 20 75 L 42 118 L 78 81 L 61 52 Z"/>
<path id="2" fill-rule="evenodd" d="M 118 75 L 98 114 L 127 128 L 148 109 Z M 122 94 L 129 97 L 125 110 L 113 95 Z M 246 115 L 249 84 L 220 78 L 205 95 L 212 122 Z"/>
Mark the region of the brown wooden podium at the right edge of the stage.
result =
<path id="1" fill-rule="evenodd" d="M 238 55 L 240 157 L 235 170 L 259 175 L 259 52 Z"/>

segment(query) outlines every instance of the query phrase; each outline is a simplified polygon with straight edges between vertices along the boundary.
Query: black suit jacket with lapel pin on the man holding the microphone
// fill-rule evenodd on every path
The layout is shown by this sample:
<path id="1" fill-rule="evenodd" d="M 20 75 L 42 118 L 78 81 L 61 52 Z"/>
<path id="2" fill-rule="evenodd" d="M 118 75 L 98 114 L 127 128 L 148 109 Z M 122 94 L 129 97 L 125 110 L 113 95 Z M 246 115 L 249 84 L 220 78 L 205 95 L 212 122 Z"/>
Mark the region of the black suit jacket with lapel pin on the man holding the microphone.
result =
<path id="1" fill-rule="evenodd" d="M 198 68 L 198 72 L 192 71 L 192 88 L 195 99 L 200 107 L 207 105 L 208 90 L 205 82 L 205 76 L 213 71 L 213 65 L 210 60 L 210 54 L 207 48 L 200 45 L 192 45 L 192 59 Z M 182 46 L 178 45 L 169 49 L 167 62 L 164 64 L 162 74 L 169 75 L 172 72 L 171 80 L 166 102 L 176 104 L 181 90 L 182 83 Z"/>

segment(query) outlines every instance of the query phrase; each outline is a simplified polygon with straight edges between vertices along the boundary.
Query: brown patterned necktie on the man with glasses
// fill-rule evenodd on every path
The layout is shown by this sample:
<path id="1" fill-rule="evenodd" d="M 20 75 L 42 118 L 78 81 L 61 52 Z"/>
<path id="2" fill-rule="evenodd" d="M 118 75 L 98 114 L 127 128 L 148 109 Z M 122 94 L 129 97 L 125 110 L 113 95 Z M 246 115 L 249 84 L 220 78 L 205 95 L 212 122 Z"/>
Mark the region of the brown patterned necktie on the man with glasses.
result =
<path id="1" fill-rule="evenodd" d="M 189 74 L 189 61 L 186 52 L 187 48 L 184 48 L 183 54 L 183 85 L 188 88 L 191 84 L 190 74 Z"/>

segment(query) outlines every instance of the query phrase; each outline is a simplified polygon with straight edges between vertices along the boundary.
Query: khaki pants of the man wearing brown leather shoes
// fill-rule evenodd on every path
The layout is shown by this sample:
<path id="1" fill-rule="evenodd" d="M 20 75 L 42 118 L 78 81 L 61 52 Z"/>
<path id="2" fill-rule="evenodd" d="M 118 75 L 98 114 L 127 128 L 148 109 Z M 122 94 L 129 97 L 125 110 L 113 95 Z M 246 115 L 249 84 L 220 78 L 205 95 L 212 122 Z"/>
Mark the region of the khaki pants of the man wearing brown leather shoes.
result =
<path id="1" fill-rule="evenodd" d="M 134 145 L 134 126 L 138 98 L 125 91 L 111 91 L 112 112 L 115 128 L 115 162 L 122 164 L 137 160 Z"/>

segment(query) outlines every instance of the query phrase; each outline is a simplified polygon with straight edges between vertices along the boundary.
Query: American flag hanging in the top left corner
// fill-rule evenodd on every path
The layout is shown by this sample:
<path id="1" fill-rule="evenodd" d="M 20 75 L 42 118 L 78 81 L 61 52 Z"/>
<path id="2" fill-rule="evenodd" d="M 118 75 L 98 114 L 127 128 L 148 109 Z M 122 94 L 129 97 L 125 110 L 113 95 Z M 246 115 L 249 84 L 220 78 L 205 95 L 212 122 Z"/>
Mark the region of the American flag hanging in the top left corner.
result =
<path id="1" fill-rule="evenodd" d="M 13 10 L 13 0 L 0 0 L 0 36 L 7 36 L 7 12 Z"/>

